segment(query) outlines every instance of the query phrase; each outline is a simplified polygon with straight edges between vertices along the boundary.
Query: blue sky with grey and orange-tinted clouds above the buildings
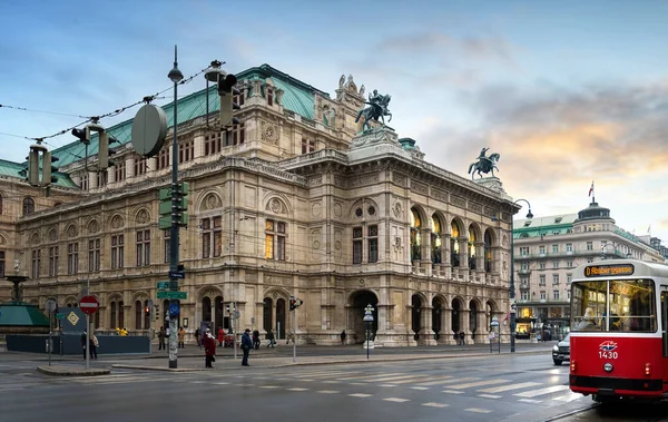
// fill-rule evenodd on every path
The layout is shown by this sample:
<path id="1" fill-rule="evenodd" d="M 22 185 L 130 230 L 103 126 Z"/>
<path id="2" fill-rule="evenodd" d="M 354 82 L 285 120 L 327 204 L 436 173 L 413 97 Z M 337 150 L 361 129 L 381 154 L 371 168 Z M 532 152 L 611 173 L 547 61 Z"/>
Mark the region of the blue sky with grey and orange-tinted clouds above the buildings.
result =
<path id="1" fill-rule="evenodd" d="M 233 72 L 269 63 L 334 95 L 353 75 L 392 95 L 393 127 L 431 163 L 470 177 L 489 147 L 505 190 L 536 215 L 586 207 L 595 180 L 618 225 L 668 243 L 668 2 L 96 3 L 0 1 L 1 105 L 118 109 L 169 87 L 175 43 L 186 77 L 214 59 Z M 2 107 L 0 158 L 22 160 L 31 143 L 21 136 L 80 120 Z"/>

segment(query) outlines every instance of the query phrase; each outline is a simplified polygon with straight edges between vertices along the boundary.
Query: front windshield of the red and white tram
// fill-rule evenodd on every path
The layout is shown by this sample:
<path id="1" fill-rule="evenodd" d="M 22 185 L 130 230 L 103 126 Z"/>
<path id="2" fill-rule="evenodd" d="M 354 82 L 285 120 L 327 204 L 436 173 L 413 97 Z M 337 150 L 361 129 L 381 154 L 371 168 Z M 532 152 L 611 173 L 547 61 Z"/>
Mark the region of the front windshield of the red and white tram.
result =
<path id="1" fill-rule="evenodd" d="M 572 331 L 656 332 L 651 279 L 612 279 L 572 284 Z"/>

